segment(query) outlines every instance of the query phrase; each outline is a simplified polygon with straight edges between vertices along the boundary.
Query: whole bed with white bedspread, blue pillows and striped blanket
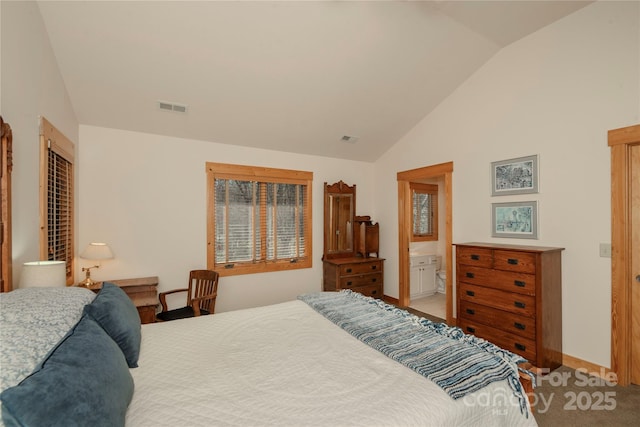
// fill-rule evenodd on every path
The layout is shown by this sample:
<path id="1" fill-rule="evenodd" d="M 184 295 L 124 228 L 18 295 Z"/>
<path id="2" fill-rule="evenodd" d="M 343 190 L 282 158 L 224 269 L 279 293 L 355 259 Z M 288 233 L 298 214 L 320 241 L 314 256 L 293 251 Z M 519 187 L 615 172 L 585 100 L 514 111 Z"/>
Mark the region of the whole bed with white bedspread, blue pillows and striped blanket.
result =
<path id="1" fill-rule="evenodd" d="M 350 291 L 136 316 L 117 286 L 0 294 L 4 425 L 536 425 L 519 356 Z"/>

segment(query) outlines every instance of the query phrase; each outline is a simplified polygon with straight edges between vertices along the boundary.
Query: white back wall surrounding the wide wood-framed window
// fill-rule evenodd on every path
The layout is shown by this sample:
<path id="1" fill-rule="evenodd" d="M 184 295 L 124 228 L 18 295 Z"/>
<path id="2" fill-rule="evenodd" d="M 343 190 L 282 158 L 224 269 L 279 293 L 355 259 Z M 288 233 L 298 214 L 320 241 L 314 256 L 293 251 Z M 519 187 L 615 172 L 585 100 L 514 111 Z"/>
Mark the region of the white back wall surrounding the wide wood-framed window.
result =
<path id="1" fill-rule="evenodd" d="M 205 162 L 313 172 L 313 268 L 223 277 L 217 312 L 283 302 L 322 289 L 324 182 L 356 184 L 357 214 L 373 210 L 372 163 L 84 125 L 80 137 L 78 249 L 104 241 L 116 256 L 92 277 L 159 276 L 160 290 L 184 287 L 189 270 L 206 267 Z M 87 265 L 77 261 L 78 270 Z"/>

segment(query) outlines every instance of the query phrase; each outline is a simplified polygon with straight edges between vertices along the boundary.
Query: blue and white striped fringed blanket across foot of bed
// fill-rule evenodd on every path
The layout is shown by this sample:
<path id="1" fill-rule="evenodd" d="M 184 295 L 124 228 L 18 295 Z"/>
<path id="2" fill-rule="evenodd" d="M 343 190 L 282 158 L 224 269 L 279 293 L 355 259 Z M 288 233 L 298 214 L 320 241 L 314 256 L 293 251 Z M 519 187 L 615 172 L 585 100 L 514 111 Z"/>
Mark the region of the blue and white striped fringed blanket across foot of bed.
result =
<path id="1" fill-rule="evenodd" d="M 505 380 L 521 411 L 527 413 L 517 367 L 525 359 L 516 354 L 466 335 L 460 328 L 417 317 L 350 290 L 298 299 L 360 341 L 433 381 L 453 399 Z"/>

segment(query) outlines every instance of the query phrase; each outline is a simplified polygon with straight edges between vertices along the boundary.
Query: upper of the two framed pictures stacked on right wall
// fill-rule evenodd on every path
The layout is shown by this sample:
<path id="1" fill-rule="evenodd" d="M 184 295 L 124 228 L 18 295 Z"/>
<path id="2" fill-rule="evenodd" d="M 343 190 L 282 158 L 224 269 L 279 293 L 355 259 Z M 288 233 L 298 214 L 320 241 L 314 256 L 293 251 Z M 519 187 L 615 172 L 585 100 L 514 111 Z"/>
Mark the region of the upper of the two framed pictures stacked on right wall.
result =
<path id="1" fill-rule="evenodd" d="M 538 156 L 491 163 L 491 195 L 538 192 Z"/>

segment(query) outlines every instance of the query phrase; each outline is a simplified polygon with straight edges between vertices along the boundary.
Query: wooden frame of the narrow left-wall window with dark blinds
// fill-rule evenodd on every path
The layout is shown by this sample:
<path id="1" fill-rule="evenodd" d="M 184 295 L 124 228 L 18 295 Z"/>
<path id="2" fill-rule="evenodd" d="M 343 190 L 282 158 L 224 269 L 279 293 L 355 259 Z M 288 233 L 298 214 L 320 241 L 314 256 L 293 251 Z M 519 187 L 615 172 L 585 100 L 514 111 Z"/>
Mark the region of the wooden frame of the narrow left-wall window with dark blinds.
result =
<path id="1" fill-rule="evenodd" d="M 49 155 L 50 153 L 59 156 L 68 164 L 68 181 L 64 190 L 68 196 L 66 197 L 66 213 L 64 222 L 68 224 L 66 243 L 64 246 L 64 259 L 57 261 L 65 261 L 67 286 L 74 283 L 74 242 L 75 242 L 75 222 L 74 222 L 74 206 L 75 206 L 75 183 L 74 183 L 74 152 L 73 142 L 69 140 L 62 132 L 56 129 L 47 119 L 41 118 L 40 123 L 40 260 L 53 260 L 50 256 L 51 242 L 49 240 L 49 224 L 58 222 L 50 216 L 52 212 L 49 206 Z"/>

